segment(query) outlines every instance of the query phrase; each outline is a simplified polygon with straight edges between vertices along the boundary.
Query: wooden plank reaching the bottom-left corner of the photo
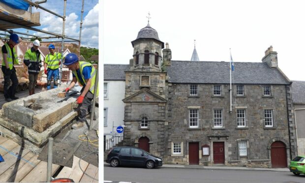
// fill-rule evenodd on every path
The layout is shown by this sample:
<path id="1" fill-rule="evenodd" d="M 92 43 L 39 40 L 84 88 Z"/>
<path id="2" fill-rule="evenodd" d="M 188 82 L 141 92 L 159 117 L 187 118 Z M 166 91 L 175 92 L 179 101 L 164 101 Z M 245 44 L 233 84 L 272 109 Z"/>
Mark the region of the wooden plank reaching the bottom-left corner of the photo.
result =
<path id="1" fill-rule="evenodd" d="M 19 161 L 17 161 L 15 164 L 13 164 L 11 167 L 9 167 L 5 172 L 3 172 L 0 175 L 0 182 L 15 182 L 15 180 L 9 181 L 9 179 L 10 178 L 13 179 L 12 177 L 15 177 L 14 175 L 17 173 L 17 171 L 20 170 L 25 164 L 27 164 L 27 163 L 32 164 L 31 158 L 34 156 L 35 156 L 35 154 L 32 152 L 29 152 L 25 156 L 23 156 L 23 159 L 20 159 Z M 34 165 L 34 164 L 32 164 L 32 165 Z M 32 168 L 34 168 L 34 166 L 32 166 Z"/>

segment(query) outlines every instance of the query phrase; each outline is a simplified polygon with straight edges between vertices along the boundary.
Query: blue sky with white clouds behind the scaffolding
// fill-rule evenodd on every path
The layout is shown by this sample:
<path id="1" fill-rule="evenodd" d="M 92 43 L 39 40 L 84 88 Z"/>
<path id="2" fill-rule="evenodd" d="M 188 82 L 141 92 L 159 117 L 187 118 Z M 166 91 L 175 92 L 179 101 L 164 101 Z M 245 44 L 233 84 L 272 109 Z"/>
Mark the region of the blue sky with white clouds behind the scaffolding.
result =
<path id="1" fill-rule="evenodd" d="M 63 0 L 47 0 L 46 3 L 42 3 L 40 5 L 62 16 L 64 5 L 63 2 Z M 79 39 L 82 0 L 67 0 L 66 2 L 65 35 Z M 98 0 L 85 0 L 81 46 L 98 47 L 98 9 Z M 60 17 L 41 10 L 40 8 L 36 9 L 35 7 L 32 7 L 32 12 L 37 11 L 40 12 L 41 26 L 34 28 L 59 34 L 62 33 L 62 19 Z M 27 30 L 15 29 L 15 31 L 26 32 Z M 31 30 L 29 33 L 38 36 L 50 36 L 48 34 Z"/>

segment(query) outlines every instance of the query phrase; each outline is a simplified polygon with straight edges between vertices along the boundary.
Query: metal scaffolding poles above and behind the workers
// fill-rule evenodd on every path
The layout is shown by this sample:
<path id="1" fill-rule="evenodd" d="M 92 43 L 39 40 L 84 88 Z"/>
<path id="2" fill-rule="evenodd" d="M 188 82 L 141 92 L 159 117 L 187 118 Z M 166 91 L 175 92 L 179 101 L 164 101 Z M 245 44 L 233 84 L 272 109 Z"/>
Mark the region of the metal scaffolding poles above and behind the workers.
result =
<path id="1" fill-rule="evenodd" d="M 9 33 L 17 33 L 17 34 L 21 34 L 21 35 L 27 35 L 27 36 L 31 36 L 31 37 L 22 37 L 22 39 L 32 39 L 32 38 L 36 38 L 36 39 L 52 39 L 52 38 L 61 38 L 61 41 L 41 41 L 41 42 L 61 42 L 61 67 L 60 67 L 60 86 L 61 86 L 61 77 L 62 77 L 62 66 L 63 66 L 63 44 L 64 42 L 78 42 L 78 55 L 80 56 L 80 45 L 81 45 L 81 34 L 82 34 L 82 24 L 83 24 L 83 13 L 84 13 L 84 0 L 82 0 L 82 10 L 81 10 L 81 23 L 80 23 L 80 35 L 79 35 L 79 39 L 75 39 L 75 38 L 72 38 L 72 37 L 68 37 L 68 36 L 65 36 L 65 13 L 66 13 L 66 3 L 67 3 L 67 0 L 63 0 L 63 16 L 53 12 L 53 11 L 50 11 L 48 10 L 47 8 L 44 8 L 42 7 L 41 5 L 39 5 L 38 3 L 35 3 L 35 2 L 32 2 L 31 0 L 24 0 L 26 2 L 28 2 L 30 4 L 30 11 L 31 11 L 31 6 L 34 6 L 36 8 L 40 8 L 44 11 L 47 11 L 55 16 L 58 16 L 62 19 L 62 33 L 61 34 L 58 34 L 58 33 L 55 33 L 55 32 L 50 32 L 50 31 L 46 31 L 46 30 L 40 30 L 40 29 L 36 29 L 36 28 L 32 28 L 30 26 L 25 26 L 25 25 L 21 25 L 21 24 L 18 24 L 18 23 L 13 23 L 13 22 L 9 22 L 9 21 L 6 21 L 6 20 L 2 20 L 0 19 L 0 24 L 10 24 L 10 25 L 13 25 L 17 28 L 14 28 L 14 29 L 18 29 L 18 28 L 24 28 L 24 29 L 27 29 L 27 30 L 33 30 L 33 31 L 37 31 L 37 32 L 41 32 L 41 33 L 46 33 L 46 34 L 50 34 L 50 35 L 53 35 L 53 36 L 37 36 L 37 35 L 32 35 L 32 34 L 29 34 L 28 32 L 27 33 L 24 33 L 24 32 L 18 32 L 18 31 L 14 31 L 14 30 L 4 30 L 4 29 L 0 29 L 1 31 L 6 31 L 6 32 L 9 32 Z M 45 0 L 46 1 L 46 0 Z M 44 2 L 45 2 L 44 1 Z M 9 36 L 9 34 L 5 34 L 5 33 L 0 33 L 0 35 L 4 35 L 4 36 Z M 2 37 L 0 37 L 2 38 Z M 64 41 L 64 39 L 69 39 L 69 41 Z"/>

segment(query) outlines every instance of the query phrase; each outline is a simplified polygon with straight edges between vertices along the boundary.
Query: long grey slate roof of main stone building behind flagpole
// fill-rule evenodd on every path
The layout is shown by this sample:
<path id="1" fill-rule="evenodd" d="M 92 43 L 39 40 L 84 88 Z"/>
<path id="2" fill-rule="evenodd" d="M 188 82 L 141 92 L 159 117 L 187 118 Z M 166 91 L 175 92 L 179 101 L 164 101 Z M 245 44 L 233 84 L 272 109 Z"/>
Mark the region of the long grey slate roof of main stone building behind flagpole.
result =
<path id="1" fill-rule="evenodd" d="M 234 62 L 232 83 L 289 84 L 277 68 L 263 62 Z M 166 67 L 170 83 L 230 83 L 230 62 L 171 61 Z"/>

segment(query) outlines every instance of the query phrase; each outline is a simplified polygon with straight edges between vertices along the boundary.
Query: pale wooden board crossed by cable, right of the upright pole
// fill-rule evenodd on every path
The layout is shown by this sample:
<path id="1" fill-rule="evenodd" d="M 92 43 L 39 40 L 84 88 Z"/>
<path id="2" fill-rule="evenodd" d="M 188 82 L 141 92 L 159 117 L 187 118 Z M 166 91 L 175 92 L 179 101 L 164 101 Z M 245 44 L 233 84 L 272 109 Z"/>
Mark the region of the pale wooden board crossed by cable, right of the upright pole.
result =
<path id="1" fill-rule="evenodd" d="M 81 170 L 78 165 L 79 159 L 80 158 L 73 156 L 72 168 L 63 167 L 63 169 L 61 170 L 61 172 L 58 174 L 58 176 L 56 178 L 57 179 L 58 178 L 69 178 L 69 179 L 73 179 L 73 181 L 75 183 L 78 183 L 84 174 L 84 172 L 82 172 L 82 170 L 85 171 L 89 165 L 88 162 L 81 160 L 81 168 L 82 168 L 82 170 Z"/>

